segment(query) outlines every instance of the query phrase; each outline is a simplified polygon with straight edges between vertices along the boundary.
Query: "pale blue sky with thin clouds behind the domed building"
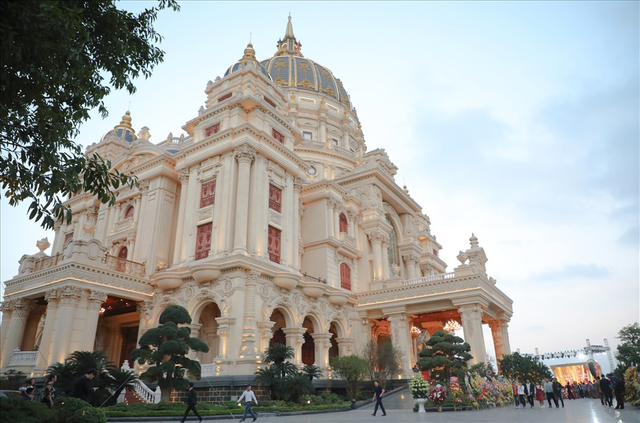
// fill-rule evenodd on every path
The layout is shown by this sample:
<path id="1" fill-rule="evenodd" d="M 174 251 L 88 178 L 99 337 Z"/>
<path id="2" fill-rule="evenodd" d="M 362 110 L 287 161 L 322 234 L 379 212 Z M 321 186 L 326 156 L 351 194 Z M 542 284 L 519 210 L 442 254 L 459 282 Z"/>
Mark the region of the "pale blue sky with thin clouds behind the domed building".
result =
<path id="1" fill-rule="evenodd" d="M 83 145 L 129 101 L 152 141 L 179 135 L 249 34 L 258 58 L 271 57 L 291 12 L 302 53 L 342 80 L 369 150 L 386 149 L 430 216 L 449 271 L 471 233 L 479 238 L 514 300 L 513 350 L 615 344 L 638 321 L 637 2 L 181 6 L 157 21 L 165 62 L 135 95 L 107 99 L 111 115 L 94 113 Z M 45 236 L 25 216 L 2 200 L 3 281 Z"/>

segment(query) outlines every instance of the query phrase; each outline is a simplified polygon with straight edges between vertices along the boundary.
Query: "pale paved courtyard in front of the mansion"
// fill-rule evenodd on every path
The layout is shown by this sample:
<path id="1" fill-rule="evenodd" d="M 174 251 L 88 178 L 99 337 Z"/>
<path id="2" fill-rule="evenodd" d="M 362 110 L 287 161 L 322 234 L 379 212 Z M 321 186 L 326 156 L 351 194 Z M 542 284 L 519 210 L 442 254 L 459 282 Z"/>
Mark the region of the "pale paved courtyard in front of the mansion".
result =
<path id="1" fill-rule="evenodd" d="M 638 423 L 640 422 L 640 411 L 635 408 L 625 408 L 624 410 L 614 410 L 600 405 L 599 400 L 581 399 L 575 401 L 565 401 L 564 408 L 534 408 L 518 409 L 515 407 L 495 408 L 491 410 L 478 411 L 456 411 L 443 413 L 415 413 L 411 410 L 413 399 L 408 390 L 394 394 L 385 398 L 383 403 L 387 409 L 387 416 L 382 417 L 378 410 L 378 416 L 373 417 L 373 404 L 367 405 L 355 411 L 341 413 L 324 413 L 300 416 L 259 416 L 258 422 L 264 423 L 359 423 L 359 422 L 429 422 L 429 423 L 482 423 L 482 422 L 523 422 L 523 423 Z M 235 421 L 239 420 L 238 416 Z M 179 421 L 180 419 L 154 418 L 148 422 L 158 421 Z M 217 420 L 217 419 L 216 419 Z M 112 421 L 112 420 L 110 420 Z M 115 420 L 114 420 L 115 421 Z M 146 421 L 136 420 L 138 423 Z M 193 415 L 188 422 L 197 422 Z M 206 421 L 214 421 L 213 418 L 205 418 Z M 230 416 L 226 420 L 230 421 Z M 247 419 L 248 422 L 251 419 Z"/>

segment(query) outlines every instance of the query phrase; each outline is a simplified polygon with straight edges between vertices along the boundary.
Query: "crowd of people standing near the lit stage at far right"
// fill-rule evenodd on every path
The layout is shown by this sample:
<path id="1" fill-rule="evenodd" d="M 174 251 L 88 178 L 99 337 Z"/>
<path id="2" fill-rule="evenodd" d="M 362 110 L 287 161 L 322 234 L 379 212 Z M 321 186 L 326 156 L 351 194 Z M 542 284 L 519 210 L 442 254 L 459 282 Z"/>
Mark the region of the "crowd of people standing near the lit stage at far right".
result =
<path id="1" fill-rule="evenodd" d="M 530 379 L 526 379 L 523 384 L 521 382 L 513 383 L 513 397 L 515 399 L 516 408 L 534 408 L 535 401 L 538 401 L 540 408 L 545 408 L 545 399 L 548 408 L 560 408 L 560 404 L 564 407 L 564 400 L 577 400 L 580 398 L 600 399 L 605 407 L 613 407 L 613 397 L 616 397 L 616 410 L 624 409 L 624 380 L 618 380 L 613 374 L 596 376 L 594 380 L 585 380 L 584 382 L 569 382 L 565 385 L 560 383 L 556 378 L 553 380 L 544 379 L 541 382 L 533 383 Z M 553 402 L 553 404 L 552 404 Z"/>

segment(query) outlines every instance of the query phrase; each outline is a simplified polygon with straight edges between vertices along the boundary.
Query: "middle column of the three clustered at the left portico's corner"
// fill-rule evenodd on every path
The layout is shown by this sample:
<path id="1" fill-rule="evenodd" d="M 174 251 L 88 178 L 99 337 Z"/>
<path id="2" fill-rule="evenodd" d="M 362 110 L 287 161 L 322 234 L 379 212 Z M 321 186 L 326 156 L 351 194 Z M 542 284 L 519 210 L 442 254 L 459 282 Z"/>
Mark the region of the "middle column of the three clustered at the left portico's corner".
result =
<path id="1" fill-rule="evenodd" d="M 69 344 L 71 341 L 71 331 L 75 318 L 78 301 L 82 297 L 83 290 L 75 286 L 65 286 L 59 289 L 60 302 L 58 304 L 58 318 L 51 346 L 51 356 L 49 363 L 63 363 L 67 358 Z"/>

